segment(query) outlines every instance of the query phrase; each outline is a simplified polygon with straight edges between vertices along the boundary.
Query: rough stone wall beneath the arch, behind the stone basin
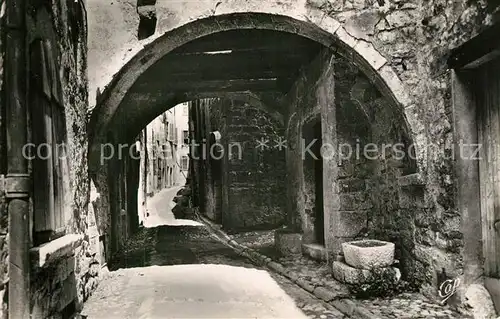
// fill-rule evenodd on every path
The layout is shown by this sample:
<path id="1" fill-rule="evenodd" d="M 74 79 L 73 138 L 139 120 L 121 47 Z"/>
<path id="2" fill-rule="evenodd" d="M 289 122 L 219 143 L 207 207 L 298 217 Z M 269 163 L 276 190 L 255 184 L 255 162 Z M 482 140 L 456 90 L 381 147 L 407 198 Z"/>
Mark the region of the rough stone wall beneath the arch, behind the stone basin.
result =
<path id="1" fill-rule="evenodd" d="M 320 116 L 323 106 L 320 105 L 318 92 L 328 85 L 321 73 L 328 68 L 328 56 L 325 52 L 321 53 L 299 77 L 294 89 L 297 91 L 292 90 L 289 94 L 290 113 L 296 115 L 303 136 L 310 134 L 311 122 L 336 127 L 332 140 L 337 143 L 339 151 L 334 159 L 337 173 L 332 188 L 321 190 L 323 200 L 338 194 L 335 206 L 323 206 L 325 225 L 332 221 L 335 223 L 333 227 L 330 225 L 330 229 L 325 227 L 326 247 L 338 253 L 341 242 L 367 237 L 395 242 L 403 274 L 411 277 L 408 279 L 413 282 L 416 278 L 427 278 L 422 274 L 423 264 L 414 255 L 414 244 L 418 243 L 418 238 L 414 236 L 417 226 L 415 217 L 410 213 L 418 211 L 416 208 L 423 196 L 418 190 L 400 187 L 401 178 L 412 176 L 416 170 L 415 158 L 409 147 L 412 141 L 404 119 L 359 68 L 345 58 L 335 56 L 332 67 L 336 121 L 326 123 L 323 114 Z M 306 98 L 295 99 L 295 96 Z M 288 137 L 292 140 L 291 136 Z M 309 145 L 309 140 L 303 145 Z M 296 187 L 299 203 L 303 198 L 304 205 L 298 208 L 303 242 L 311 243 L 322 231 L 318 227 L 324 226 L 315 223 L 315 176 L 308 163 L 312 155 L 305 155 L 303 174 L 299 176 L 302 181 Z M 321 156 L 318 153 L 315 155 Z M 329 161 L 326 157 L 323 164 Z M 300 170 L 298 174 L 301 175 Z M 323 178 L 327 178 L 327 174 L 329 172 L 324 171 Z"/>

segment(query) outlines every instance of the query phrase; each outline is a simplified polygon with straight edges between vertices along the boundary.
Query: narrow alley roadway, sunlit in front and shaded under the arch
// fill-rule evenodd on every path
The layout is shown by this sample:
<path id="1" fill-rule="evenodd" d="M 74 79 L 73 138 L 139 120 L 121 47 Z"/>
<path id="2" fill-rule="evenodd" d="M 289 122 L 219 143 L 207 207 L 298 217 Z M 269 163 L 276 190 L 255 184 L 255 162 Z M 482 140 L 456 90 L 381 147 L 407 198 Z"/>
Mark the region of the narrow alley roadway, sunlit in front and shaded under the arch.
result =
<path id="1" fill-rule="evenodd" d="M 143 228 L 117 256 L 82 315 L 89 319 L 345 318 L 288 279 L 253 265 L 203 224 L 175 220 L 172 194 L 178 190 L 165 189 L 151 199 L 154 205 L 145 220 L 151 228 Z"/>

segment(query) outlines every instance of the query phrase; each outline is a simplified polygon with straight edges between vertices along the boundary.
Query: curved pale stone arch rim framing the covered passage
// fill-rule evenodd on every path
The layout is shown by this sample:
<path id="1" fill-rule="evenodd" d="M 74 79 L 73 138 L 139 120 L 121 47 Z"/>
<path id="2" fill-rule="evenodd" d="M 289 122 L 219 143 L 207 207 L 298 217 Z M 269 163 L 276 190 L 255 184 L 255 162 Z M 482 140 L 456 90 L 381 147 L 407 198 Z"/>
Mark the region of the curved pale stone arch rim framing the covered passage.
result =
<path id="1" fill-rule="evenodd" d="M 118 52 L 115 54 L 119 55 L 129 56 L 130 53 L 125 53 L 127 51 L 135 51 L 137 54 L 125 65 L 121 62 L 122 60 L 118 63 L 119 67 L 118 64 L 113 63 L 114 69 L 107 71 L 111 73 L 118 71 L 118 73 L 100 95 L 98 104 L 92 111 L 89 130 L 91 167 L 95 165 L 96 155 L 99 154 L 97 145 L 103 141 L 102 137 L 105 135 L 107 124 L 118 111 L 125 94 L 138 77 L 175 48 L 203 36 L 227 30 L 284 31 L 330 47 L 355 63 L 406 118 L 405 108 L 410 107 L 412 101 L 397 74 L 373 45 L 350 36 L 338 21 L 308 5 L 294 6 L 293 10 L 290 6 L 278 2 L 266 8 L 260 7 L 261 4 L 253 2 L 241 6 L 222 3 L 216 6 L 216 10 L 211 14 L 207 14 L 202 10 L 203 8 L 193 8 L 193 11 L 189 11 L 192 12 L 190 17 L 181 15 L 177 17 L 178 19 L 170 21 L 172 23 L 162 24 L 160 21 L 161 27 L 156 36 L 148 39 L 147 45 L 140 51 L 137 52 L 137 48 L 144 45 L 144 42 L 138 41 L 128 43 L 132 46 L 131 49 L 126 50 L 123 47 L 115 50 Z M 204 9 L 208 10 L 208 8 Z M 199 12 L 199 16 L 193 18 L 193 15 L 197 16 L 196 12 Z M 165 33 L 157 36 L 162 32 Z M 106 78 L 106 75 L 103 77 Z M 411 131 L 417 131 L 420 122 L 414 118 L 409 119 L 408 122 Z"/>

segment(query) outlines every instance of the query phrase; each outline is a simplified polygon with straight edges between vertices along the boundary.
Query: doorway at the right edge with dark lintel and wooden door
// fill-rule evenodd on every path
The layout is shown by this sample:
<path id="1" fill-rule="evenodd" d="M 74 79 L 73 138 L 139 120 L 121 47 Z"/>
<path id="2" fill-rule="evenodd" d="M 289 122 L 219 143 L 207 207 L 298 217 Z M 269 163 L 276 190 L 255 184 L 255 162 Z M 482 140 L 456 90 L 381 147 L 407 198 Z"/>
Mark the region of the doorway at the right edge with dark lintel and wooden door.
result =
<path id="1" fill-rule="evenodd" d="M 500 311 L 500 47 L 493 26 L 451 53 L 464 286 L 484 278 Z M 495 42 L 497 43 L 497 42 Z M 472 147 L 471 147 L 472 146 Z M 482 252 L 479 254 L 478 252 Z"/>

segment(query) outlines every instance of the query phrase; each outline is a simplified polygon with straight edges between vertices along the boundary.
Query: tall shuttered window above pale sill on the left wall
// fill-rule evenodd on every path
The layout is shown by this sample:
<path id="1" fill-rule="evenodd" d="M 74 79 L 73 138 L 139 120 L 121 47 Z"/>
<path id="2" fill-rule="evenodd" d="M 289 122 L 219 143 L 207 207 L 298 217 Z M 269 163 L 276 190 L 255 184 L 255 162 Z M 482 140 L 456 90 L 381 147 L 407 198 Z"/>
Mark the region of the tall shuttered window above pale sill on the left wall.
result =
<path id="1" fill-rule="evenodd" d="M 39 246 L 65 234 L 66 121 L 55 55 L 47 40 L 30 45 L 30 112 L 33 154 L 33 242 Z M 66 175 L 67 176 L 67 175 Z"/>

